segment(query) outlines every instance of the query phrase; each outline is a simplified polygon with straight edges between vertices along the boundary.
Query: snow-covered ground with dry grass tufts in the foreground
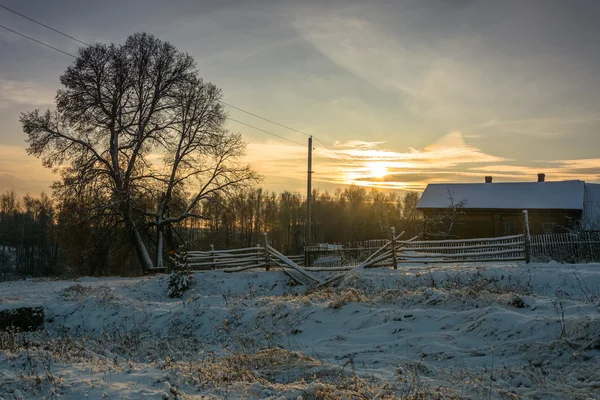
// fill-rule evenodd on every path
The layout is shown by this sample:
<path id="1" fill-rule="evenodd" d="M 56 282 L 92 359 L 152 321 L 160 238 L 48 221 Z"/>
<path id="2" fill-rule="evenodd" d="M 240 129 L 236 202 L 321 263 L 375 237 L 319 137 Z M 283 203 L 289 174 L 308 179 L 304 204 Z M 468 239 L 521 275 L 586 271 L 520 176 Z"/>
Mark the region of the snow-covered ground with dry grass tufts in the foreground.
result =
<path id="1" fill-rule="evenodd" d="M 183 299 L 166 275 L 0 283 L 12 301 L 47 322 L 0 333 L 4 399 L 600 398 L 600 264 L 375 269 L 312 291 L 207 271 Z"/>

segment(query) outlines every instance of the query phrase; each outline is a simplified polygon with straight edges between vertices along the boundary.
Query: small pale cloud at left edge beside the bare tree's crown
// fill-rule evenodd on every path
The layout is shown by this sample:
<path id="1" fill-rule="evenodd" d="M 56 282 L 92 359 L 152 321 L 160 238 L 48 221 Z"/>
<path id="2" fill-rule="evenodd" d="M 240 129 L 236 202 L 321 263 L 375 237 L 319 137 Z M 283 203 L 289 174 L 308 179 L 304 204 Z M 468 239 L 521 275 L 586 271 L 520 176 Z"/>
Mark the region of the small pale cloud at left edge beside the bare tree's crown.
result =
<path id="1" fill-rule="evenodd" d="M 0 78 L 0 108 L 11 104 L 51 105 L 55 94 L 54 90 L 33 82 Z"/>

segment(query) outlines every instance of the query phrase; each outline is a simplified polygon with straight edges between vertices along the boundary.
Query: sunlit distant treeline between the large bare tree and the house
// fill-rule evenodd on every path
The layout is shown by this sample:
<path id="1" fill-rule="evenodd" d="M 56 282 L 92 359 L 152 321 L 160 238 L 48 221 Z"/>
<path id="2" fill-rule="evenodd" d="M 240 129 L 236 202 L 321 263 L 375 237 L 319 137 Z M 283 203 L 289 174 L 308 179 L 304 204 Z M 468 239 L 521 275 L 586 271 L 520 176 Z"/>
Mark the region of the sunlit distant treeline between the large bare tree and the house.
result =
<path id="1" fill-rule="evenodd" d="M 404 198 L 396 193 L 366 190 L 359 186 L 338 189 L 334 193 L 313 191 L 312 243 L 350 243 L 389 238 L 391 227 L 407 236 L 421 229 L 416 210 L 417 193 Z M 284 253 L 300 253 L 305 244 L 306 199 L 297 193 L 281 194 L 262 189 L 243 191 L 227 199 L 205 203 L 202 214 L 207 220 L 195 220 L 203 228 L 192 246 L 231 248 L 263 244 L 263 232 L 269 242 Z"/>

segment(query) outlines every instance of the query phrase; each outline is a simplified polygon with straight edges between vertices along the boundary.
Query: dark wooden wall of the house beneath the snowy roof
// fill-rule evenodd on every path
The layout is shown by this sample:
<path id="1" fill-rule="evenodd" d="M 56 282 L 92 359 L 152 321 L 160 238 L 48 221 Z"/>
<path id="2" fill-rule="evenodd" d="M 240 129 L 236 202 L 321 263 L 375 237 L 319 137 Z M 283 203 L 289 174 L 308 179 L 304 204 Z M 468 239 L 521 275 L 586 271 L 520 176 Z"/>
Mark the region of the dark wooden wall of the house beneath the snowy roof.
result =
<path id="1" fill-rule="evenodd" d="M 426 221 L 447 213 L 446 210 L 439 209 L 421 209 L 421 211 Z M 529 231 L 532 235 L 565 232 L 580 218 L 580 210 L 531 210 Z M 427 222 L 425 224 L 427 225 Z M 456 215 L 451 235 L 457 239 L 498 237 L 521 234 L 524 232 L 523 228 L 522 210 L 462 209 Z M 429 231 L 427 226 L 425 231 Z"/>

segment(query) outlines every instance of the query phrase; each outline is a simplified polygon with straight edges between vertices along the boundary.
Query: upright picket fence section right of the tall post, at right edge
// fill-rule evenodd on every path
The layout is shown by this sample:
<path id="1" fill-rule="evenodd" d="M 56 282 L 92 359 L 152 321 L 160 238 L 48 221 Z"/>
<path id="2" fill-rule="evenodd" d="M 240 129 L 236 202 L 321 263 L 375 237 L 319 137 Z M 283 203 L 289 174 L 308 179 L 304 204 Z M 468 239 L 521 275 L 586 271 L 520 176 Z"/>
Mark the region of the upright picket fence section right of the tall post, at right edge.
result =
<path id="1" fill-rule="evenodd" d="M 600 262 L 600 232 L 533 235 L 531 258 L 536 261 Z"/>

